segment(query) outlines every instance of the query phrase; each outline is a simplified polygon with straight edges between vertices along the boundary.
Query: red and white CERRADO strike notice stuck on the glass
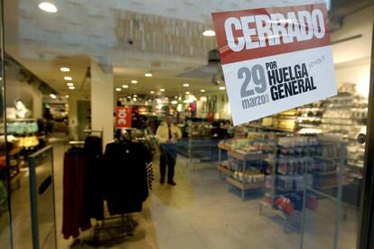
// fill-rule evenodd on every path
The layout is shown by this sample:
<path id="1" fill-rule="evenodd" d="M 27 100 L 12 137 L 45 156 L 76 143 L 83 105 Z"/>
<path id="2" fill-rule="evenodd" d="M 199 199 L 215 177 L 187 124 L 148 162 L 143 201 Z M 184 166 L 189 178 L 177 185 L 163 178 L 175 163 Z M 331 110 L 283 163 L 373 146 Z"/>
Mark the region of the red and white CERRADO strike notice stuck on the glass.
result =
<path id="1" fill-rule="evenodd" d="M 336 95 L 326 6 L 213 13 L 233 123 Z"/>

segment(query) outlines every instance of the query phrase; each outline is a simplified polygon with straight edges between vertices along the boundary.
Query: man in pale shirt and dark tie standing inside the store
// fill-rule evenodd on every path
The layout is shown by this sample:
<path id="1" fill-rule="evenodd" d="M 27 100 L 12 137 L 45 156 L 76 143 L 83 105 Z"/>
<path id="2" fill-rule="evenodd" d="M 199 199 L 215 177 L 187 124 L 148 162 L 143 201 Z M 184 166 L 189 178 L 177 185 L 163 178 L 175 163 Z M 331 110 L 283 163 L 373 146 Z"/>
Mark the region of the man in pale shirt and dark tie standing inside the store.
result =
<path id="1" fill-rule="evenodd" d="M 158 126 L 156 137 L 160 143 L 160 174 L 161 184 L 165 182 L 166 165 L 167 165 L 167 183 L 175 186 L 174 167 L 177 157 L 176 143 L 179 138 L 182 138 L 181 129 L 173 124 L 173 116 L 166 115 L 165 121 Z"/>

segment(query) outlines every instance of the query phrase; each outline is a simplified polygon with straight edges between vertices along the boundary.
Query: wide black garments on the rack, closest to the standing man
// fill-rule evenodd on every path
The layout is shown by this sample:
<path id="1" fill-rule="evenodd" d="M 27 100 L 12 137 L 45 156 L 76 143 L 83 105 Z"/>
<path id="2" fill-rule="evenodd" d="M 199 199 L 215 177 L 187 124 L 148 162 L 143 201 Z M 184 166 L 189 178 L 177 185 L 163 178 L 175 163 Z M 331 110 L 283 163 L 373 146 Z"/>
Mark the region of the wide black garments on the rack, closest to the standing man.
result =
<path id="1" fill-rule="evenodd" d="M 146 163 L 150 152 L 143 143 L 131 141 L 108 143 L 104 155 L 105 192 L 110 215 L 142 210 L 148 197 Z"/>

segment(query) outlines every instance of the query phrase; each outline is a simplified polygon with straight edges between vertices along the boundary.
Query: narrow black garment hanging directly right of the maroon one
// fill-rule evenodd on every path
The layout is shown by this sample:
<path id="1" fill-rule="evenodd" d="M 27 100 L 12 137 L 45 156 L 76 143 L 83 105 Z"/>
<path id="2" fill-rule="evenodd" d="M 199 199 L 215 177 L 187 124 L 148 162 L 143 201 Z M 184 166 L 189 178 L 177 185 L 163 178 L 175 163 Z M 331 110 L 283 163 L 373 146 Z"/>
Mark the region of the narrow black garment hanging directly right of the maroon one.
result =
<path id="1" fill-rule="evenodd" d="M 90 218 L 104 217 L 102 174 L 102 141 L 98 136 L 88 136 L 84 143 L 86 157 L 83 176 L 83 211 Z"/>

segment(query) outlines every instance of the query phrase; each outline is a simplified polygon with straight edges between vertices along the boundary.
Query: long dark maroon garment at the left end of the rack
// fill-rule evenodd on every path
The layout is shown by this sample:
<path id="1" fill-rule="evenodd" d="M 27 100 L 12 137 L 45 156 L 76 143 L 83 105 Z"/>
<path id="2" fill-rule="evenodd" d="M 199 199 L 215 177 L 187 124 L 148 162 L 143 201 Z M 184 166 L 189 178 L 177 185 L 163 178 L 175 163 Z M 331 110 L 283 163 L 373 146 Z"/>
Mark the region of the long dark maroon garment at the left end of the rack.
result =
<path id="1" fill-rule="evenodd" d="M 70 148 L 63 159 L 63 211 L 62 234 L 65 239 L 78 237 L 91 227 L 83 211 L 83 175 L 85 155 L 83 149 Z"/>

